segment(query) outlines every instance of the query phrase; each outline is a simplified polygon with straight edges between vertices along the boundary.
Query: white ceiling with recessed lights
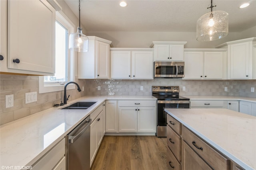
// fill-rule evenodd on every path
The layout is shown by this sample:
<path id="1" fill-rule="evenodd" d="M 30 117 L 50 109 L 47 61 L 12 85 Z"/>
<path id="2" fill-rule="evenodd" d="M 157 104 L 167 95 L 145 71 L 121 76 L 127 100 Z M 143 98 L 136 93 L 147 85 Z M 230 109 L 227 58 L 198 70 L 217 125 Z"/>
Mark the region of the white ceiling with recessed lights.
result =
<path id="1" fill-rule="evenodd" d="M 78 17 L 78 0 L 65 0 Z M 81 0 L 81 23 L 86 31 L 196 32 L 210 0 Z M 244 2 L 250 6 L 240 9 Z M 256 25 L 256 0 L 213 0 L 215 10 L 229 14 L 229 32 Z M 84 28 L 83 28 L 84 29 Z"/>

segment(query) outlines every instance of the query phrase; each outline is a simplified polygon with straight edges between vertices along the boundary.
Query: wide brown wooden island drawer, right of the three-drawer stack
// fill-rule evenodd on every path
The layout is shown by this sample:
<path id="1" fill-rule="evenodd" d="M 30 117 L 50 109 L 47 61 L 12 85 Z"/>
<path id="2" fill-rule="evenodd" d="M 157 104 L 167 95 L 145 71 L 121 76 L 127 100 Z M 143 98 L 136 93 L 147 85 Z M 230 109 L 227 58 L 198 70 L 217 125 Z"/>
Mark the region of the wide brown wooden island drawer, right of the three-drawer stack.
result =
<path id="1" fill-rule="evenodd" d="M 194 151 L 198 153 L 210 166 L 212 166 L 214 170 L 230 169 L 230 160 L 222 156 L 219 152 L 199 139 L 199 137 L 194 135 L 184 126 L 182 126 L 182 139 L 186 141 L 186 143 L 188 143 L 188 145 L 194 149 Z"/>

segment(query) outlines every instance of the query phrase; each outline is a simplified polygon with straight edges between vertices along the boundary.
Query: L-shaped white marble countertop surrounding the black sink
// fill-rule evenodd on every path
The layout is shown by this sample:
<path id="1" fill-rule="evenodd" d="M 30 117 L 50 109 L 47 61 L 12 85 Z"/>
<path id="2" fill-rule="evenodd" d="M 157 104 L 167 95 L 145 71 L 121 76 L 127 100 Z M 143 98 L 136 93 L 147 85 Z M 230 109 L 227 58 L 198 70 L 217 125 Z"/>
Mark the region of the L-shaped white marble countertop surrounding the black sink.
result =
<path id="1" fill-rule="evenodd" d="M 0 126 L 0 168 L 31 166 L 105 100 L 156 100 L 152 96 L 85 96 L 68 102 L 96 102 L 88 109 L 52 107 Z"/>

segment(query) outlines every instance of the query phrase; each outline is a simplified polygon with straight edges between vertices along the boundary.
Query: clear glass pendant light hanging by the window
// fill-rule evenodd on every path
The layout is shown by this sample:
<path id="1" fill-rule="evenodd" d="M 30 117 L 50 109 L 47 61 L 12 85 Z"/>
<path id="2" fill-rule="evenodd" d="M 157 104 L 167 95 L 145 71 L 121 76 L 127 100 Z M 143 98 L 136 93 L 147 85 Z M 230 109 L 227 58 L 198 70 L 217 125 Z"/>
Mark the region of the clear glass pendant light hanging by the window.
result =
<path id="1" fill-rule="evenodd" d="M 86 35 L 82 33 L 82 28 L 80 27 L 80 0 L 79 0 L 79 27 L 77 27 L 76 33 L 71 33 L 69 35 L 69 49 L 78 52 L 88 51 L 89 39 Z"/>

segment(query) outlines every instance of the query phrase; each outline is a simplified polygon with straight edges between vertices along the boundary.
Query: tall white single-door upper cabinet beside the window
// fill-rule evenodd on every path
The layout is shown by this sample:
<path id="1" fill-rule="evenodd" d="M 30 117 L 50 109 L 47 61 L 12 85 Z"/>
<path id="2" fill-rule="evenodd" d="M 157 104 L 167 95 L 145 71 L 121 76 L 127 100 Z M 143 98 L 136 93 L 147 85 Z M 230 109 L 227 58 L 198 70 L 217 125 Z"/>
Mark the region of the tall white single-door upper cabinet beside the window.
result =
<path id="1" fill-rule="evenodd" d="M 88 36 L 88 38 L 88 52 L 78 53 L 78 78 L 108 79 L 112 42 L 95 36 Z"/>

